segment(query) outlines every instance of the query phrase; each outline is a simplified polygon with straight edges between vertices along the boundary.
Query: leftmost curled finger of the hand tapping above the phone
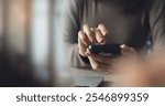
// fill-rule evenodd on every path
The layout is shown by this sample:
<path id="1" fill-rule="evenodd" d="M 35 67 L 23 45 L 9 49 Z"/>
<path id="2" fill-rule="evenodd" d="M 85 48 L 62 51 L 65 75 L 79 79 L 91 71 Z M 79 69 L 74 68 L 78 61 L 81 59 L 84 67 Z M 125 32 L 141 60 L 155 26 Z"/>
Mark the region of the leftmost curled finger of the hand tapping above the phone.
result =
<path id="1" fill-rule="evenodd" d="M 86 33 L 84 33 L 82 31 L 78 32 L 78 39 L 80 39 L 80 41 L 85 44 L 85 45 L 89 45 L 90 41 L 88 39 L 88 36 L 86 35 Z"/>

